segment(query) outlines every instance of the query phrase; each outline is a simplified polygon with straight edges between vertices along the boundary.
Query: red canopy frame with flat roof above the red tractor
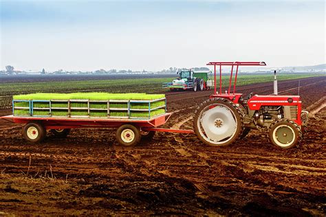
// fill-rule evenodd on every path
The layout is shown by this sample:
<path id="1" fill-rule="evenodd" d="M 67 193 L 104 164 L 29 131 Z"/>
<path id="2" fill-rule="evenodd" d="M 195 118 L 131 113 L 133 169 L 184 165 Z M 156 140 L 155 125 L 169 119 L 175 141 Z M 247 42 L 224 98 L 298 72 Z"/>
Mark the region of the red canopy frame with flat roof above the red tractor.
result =
<path id="1" fill-rule="evenodd" d="M 239 66 L 265 66 L 265 62 L 208 62 L 207 65 L 214 66 L 214 94 L 217 94 L 216 91 L 216 66 L 219 65 L 219 94 L 222 93 L 222 65 L 231 66 L 231 73 L 230 73 L 230 82 L 228 86 L 228 95 L 231 92 L 231 84 L 232 84 L 232 74 L 233 74 L 233 67 L 237 66 L 237 71 L 235 73 L 235 82 L 233 85 L 233 93 L 235 93 L 235 85 L 237 84 L 237 76 L 238 76 L 238 69 Z"/>

